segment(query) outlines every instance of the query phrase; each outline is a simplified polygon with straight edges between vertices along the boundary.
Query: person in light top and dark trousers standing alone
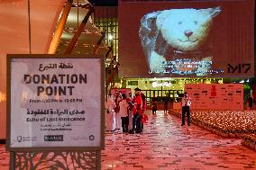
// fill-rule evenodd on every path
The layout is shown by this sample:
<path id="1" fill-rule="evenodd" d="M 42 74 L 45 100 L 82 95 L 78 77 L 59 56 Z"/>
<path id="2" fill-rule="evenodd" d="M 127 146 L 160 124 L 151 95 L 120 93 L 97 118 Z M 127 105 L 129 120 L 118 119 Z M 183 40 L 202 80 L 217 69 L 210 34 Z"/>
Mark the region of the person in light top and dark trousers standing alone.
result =
<path id="1" fill-rule="evenodd" d="M 187 125 L 190 126 L 190 106 L 191 106 L 191 98 L 188 97 L 187 92 L 184 93 L 184 97 L 181 99 L 182 105 L 182 124 L 185 125 L 185 117 L 187 114 Z"/>

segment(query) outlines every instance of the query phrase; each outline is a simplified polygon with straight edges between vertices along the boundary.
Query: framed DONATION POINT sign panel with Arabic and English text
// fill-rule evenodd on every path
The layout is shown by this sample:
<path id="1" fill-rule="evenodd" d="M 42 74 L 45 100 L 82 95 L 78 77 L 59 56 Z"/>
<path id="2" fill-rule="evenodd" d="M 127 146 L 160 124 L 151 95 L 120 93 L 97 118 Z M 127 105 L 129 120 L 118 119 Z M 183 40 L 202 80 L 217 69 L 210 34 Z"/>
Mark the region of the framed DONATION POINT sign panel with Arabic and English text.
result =
<path id="1" fill-rule="evenodd" d="M 7 148 L 101 150 L 102 58 L 8 55 Z"/>

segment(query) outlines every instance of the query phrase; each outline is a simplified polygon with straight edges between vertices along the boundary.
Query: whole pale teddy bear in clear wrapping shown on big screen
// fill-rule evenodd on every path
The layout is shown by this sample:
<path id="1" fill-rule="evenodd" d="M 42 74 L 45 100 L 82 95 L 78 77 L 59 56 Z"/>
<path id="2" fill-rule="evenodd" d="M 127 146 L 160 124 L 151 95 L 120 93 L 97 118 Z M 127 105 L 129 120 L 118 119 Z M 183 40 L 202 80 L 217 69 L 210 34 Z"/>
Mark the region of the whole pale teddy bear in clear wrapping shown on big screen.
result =
<path id="1" fill-rule="evenodd" d="M 220 7 L 170 9 L 144 15 L 139 34 L 151 72 L 205 76 L 211 67 L 212 56 L 198 59 L 191 54 L 206 41 L 218 13 L 221 13 Z M 159 37 L 162 40 L 158 40 Z M 170 60 L 167 59 L 169 46 L 174 51 Z M 177 60 L 180 58 L 185 60 Z"/>

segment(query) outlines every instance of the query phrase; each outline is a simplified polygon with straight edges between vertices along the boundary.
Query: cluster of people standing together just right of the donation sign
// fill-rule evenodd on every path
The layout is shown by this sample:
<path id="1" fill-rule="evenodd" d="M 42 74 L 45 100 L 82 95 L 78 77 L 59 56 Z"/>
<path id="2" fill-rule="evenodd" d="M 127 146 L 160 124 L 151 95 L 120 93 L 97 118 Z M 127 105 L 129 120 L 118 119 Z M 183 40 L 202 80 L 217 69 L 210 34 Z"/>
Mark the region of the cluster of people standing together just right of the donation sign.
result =
<path id="1" fill-rule="evenodd" d="M 141 133 L 143 122 L 147 119 L 146 97 L 138 87 L 129 94 L 117 91 L 114 95 L 108 94 L 105 102 L 105 130 L 123 130 L 123 133 Z"/>

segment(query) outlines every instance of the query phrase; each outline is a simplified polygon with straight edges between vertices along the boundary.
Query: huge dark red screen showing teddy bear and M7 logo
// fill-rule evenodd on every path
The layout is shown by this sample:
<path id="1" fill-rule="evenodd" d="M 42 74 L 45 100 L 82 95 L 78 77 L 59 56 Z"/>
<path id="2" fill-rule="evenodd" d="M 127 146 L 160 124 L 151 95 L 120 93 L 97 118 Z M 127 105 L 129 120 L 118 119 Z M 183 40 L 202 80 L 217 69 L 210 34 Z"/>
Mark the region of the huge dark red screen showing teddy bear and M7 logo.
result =
<path id="1" fill-rule="evenodd" d="M 254 75 L 254 0 L 123 0 L 118 11 L 123 77 Z"/>

